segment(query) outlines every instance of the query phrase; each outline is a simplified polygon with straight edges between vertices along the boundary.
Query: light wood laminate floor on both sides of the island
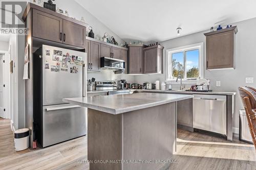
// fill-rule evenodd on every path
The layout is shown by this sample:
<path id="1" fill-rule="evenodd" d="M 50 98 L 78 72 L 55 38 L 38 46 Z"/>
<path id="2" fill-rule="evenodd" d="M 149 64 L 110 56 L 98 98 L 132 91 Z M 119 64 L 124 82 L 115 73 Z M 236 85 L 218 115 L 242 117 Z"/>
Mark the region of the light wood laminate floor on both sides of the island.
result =
<path id="1" fill-rule="evenodd" d="M 87 137 L 82 136 L 45 149 L 16 152 L 10 120 L 0 119 L 0 169 L 82 169 L 89 170 Z M 177 153 L 169 169 L 256 169 L 252 144 L 178 130 Z"/>

